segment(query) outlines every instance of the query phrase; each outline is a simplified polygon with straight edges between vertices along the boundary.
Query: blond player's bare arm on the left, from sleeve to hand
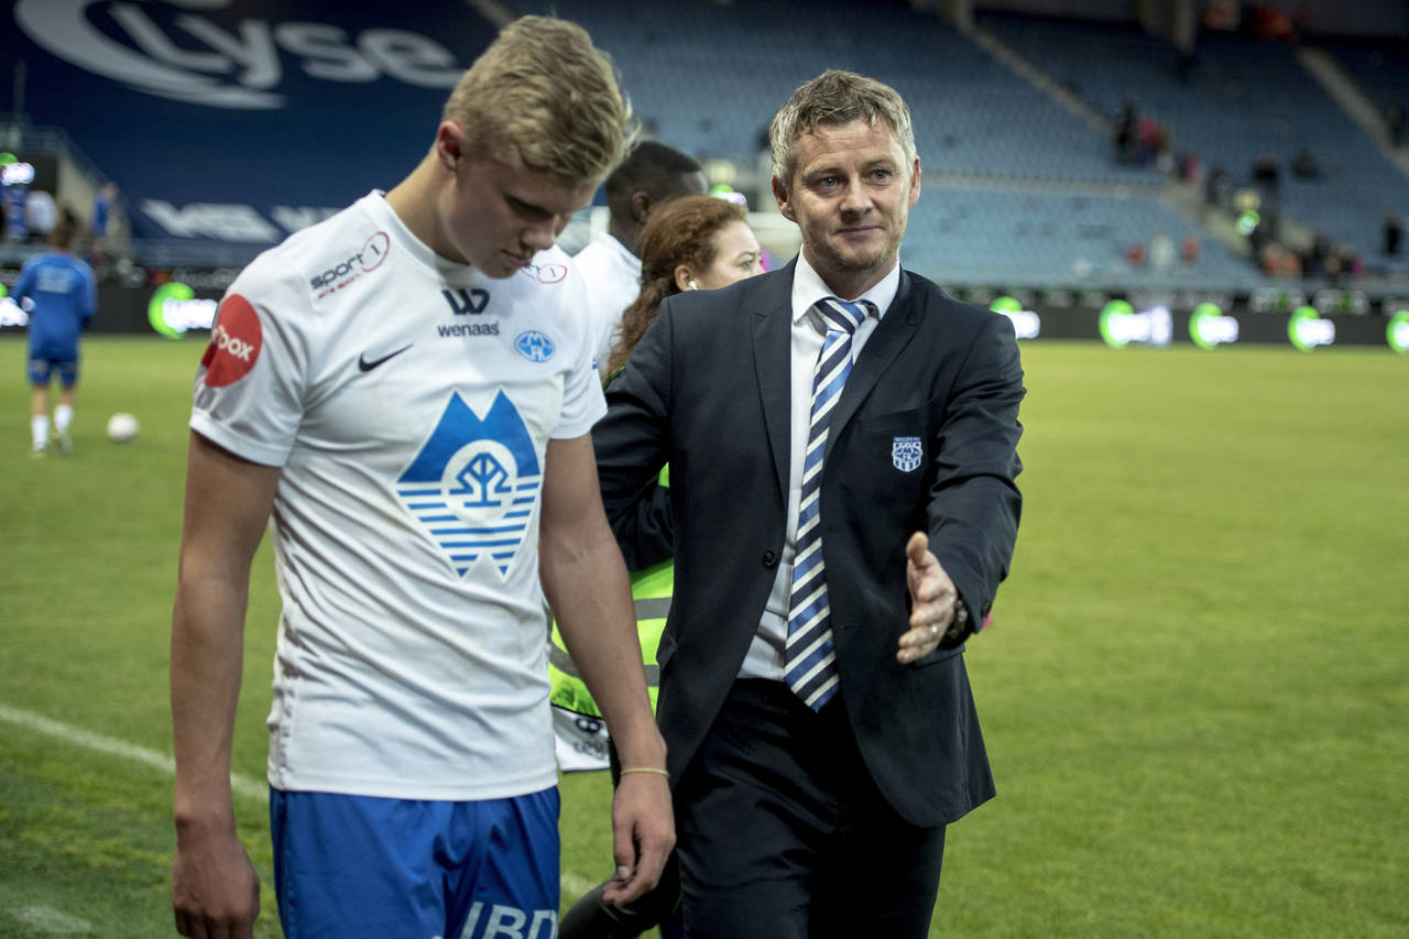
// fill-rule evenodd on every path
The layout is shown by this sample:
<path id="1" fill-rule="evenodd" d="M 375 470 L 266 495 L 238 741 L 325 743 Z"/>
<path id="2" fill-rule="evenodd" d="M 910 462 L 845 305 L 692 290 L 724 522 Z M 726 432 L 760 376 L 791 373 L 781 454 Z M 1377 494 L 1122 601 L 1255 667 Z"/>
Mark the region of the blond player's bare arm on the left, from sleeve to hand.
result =
<path id="1" fill-rule="evenodd" d="M 249 936 L 259 914 L 259 878 L 235 835 L 230 750 L 249 565 L 278 481 L 278 467 L 248 462 L 192 433 L 170 665 L 172 908 L 185 936 Z"/>

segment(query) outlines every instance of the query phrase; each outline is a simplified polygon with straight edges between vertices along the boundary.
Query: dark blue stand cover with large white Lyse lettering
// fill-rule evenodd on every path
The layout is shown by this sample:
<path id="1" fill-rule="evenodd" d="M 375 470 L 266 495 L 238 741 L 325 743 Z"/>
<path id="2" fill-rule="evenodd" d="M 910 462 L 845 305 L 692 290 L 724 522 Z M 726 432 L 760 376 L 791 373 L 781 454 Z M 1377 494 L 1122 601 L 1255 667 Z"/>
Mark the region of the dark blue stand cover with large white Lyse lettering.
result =
<path id="1" fill-rule="evenodd" d="M 144 238 L 273 244 L 426 155 L 496 27 L 462 0 L 11 0 L 23 110 Z"/>

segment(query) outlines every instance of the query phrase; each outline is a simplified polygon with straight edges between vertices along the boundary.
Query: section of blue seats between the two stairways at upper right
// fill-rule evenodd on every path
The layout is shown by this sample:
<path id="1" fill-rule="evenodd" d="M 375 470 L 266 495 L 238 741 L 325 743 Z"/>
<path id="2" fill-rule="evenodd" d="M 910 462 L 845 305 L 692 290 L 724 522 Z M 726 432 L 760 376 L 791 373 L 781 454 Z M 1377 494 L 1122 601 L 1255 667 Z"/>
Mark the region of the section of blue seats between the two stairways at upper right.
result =
<path id="1" fill-rule="evenodd" d="M 1291 220 L 1350 245 L 1385 274 L 1409 271 L 1375 254 L 1386 213 L 1409 206 L 1409 179 L 1292 47 L 1205 32 L 1181 73 L 1174 47 L 1134 27 L 995 13 L 978 23 L 1103 113 L 1133 99 L 1140 113 L 1172 128 L 1175 151 L 1196 152 L 1236 182 L 1251 185 L 1254 162 L 1270 158 L 1279 171 L 1271 195 Z M 1313 179 L 1291 172 L 1302 149 L 1319 166 Z"/>

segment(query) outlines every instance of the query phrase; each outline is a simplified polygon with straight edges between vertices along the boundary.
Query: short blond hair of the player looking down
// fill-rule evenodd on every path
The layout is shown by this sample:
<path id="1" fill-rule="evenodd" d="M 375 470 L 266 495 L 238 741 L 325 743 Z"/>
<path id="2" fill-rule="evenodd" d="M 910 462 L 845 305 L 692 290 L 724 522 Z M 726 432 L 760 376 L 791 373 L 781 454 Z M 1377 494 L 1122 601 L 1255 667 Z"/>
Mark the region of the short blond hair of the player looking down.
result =
<path id="1" fill-rule="evenodd" d="M 461 76 L 442 120 L 517 147 L 524 166 L 602 179 L 635 140 L 616 68 L 586 30 L 528 16 L 506 25 Z"/>

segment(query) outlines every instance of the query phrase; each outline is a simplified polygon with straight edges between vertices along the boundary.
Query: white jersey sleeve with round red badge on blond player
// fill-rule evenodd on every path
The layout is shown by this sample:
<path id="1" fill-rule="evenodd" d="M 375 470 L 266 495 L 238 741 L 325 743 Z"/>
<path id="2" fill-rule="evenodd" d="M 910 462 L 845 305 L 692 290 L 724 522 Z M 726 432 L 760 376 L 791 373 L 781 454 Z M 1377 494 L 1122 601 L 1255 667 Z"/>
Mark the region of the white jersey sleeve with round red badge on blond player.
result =
<path id="1" fill-rule="evenodd" d="M 282 467 L 303 417 L 316 321 L 297 274 L 256 258 L 225 292 L 196 371 L 190 429 L 252 462 Z"/>

